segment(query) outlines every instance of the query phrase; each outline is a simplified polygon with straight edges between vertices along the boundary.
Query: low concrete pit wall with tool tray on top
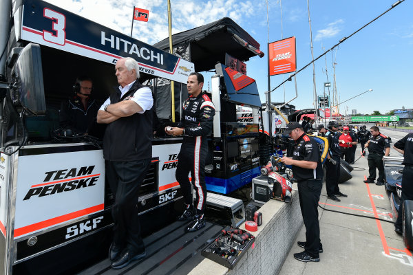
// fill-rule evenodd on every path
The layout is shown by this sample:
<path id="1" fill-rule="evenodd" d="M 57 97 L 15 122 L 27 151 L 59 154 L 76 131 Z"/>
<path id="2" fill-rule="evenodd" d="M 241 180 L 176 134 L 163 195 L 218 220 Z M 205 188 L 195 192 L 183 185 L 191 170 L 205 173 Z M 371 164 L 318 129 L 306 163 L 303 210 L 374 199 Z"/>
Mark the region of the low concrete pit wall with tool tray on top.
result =
<path id="1" fill-rule="evenodd" d="M 275 201 L 266 202 L 262 212 L 262 225 L 256 232 L 251 232 L 256 240 L 254 247 L 240 259 L 233 270 L 204 259 L 190 275 L 259 275 L 278 274 L 303 225 L 299 209 L 298 192 L 293 191 L 291 203 Z M 245 229 L 244 223 L 240 226 Z"/>

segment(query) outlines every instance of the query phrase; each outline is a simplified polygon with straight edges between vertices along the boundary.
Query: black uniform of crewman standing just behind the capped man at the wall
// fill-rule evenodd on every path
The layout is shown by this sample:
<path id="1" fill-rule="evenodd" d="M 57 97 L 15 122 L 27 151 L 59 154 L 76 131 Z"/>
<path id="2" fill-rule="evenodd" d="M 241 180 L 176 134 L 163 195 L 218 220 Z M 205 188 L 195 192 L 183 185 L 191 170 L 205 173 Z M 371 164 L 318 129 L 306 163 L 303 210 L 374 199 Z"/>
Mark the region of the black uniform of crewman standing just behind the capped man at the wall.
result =
<path id="1" fill-rule="evenodd" d="M 328 140 L 328 153 L 330 154 L 330 157 L 337 162 L 336 164 L 332 164 L 328 159 L 324 162 L 326 164 L 327 195 L 332 196 L 340 192 L 339 177 L 341 149 L 339 146 L 339 138 L 335 132 L 328 130 L 326 138 Z"/>

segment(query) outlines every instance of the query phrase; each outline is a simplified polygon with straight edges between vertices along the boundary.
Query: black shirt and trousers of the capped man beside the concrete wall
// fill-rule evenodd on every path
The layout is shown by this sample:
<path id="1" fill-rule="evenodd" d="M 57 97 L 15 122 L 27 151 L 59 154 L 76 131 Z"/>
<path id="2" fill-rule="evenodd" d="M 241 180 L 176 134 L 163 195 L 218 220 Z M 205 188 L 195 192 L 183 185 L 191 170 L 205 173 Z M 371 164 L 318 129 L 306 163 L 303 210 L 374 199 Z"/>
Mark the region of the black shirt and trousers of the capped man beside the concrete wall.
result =
<path id="1" fill-rule="evenodd" d="M 319 146 L 313 137 L 304 133 L 295 141 L 293 159 L 317 162 L 315 169 L 293 165 L 293 176 L 298 181 L 299 206 L 306 226 L 306 246 L 304 249 L 311 256 L 319 258 L 320 227 L 317 206 L 323 187 L 323 168 Z"/>

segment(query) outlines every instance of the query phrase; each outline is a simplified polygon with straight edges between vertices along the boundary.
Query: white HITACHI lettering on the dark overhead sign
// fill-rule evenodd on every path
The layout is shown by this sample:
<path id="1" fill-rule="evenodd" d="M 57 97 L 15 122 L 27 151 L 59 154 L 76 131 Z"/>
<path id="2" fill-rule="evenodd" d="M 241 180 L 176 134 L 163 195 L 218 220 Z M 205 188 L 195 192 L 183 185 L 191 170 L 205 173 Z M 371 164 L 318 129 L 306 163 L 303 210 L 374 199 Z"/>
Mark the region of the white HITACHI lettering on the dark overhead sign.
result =
<path id="1" fill-rule="evenodd" d="M 136 44 L 126 41 L 125 39 L 120 39 L 119 37 L 113 36 L 111 34 L 110 37 L 105 36 L 105 32 L 100 32 L 100 43 L 105 45 L 106 42 L 110 43 L 110 47 L 116 50 L 123 50 L 127 54 L 136 54 L 139 58 L 143 58 L 145 60 L 150 60 L 152 62 L 163 65 L 163 54 L 160 52 L 155 53 L 152 50 L 147 49 L 146 47 L 138 47 Z"/>

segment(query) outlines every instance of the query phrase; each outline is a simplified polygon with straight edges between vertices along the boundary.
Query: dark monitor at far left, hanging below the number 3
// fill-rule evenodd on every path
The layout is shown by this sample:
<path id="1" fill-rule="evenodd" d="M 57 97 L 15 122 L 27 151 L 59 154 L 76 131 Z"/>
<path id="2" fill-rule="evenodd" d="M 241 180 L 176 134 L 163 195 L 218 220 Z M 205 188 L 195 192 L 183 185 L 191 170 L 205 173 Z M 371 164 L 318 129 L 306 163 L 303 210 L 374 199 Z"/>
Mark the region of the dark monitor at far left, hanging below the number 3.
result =
<path id="1" fill-rule="evenodd" d="M 45 92 L 41 52 L 38 44 L 30 43 L 20 52 L 12 69 L 14 84 L 12 101 L 21 105 L 29 115 L 45 115 Z"/>

